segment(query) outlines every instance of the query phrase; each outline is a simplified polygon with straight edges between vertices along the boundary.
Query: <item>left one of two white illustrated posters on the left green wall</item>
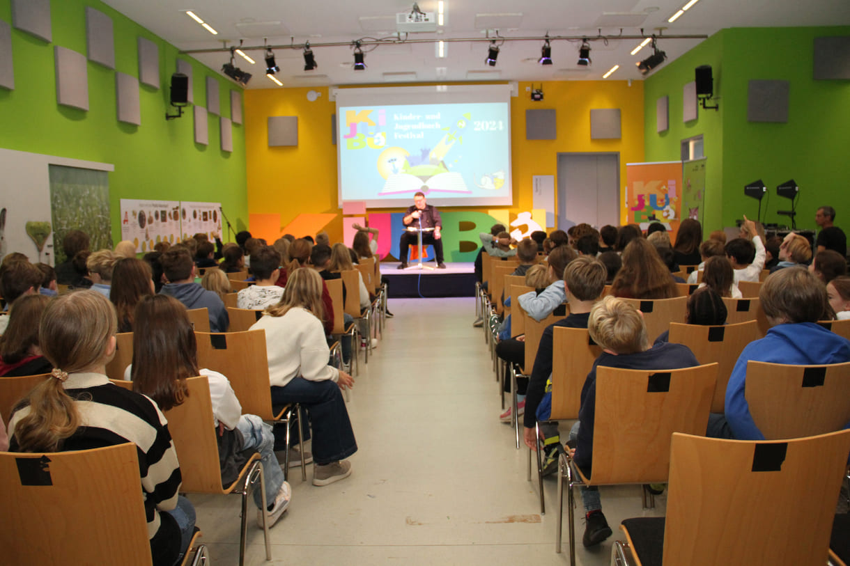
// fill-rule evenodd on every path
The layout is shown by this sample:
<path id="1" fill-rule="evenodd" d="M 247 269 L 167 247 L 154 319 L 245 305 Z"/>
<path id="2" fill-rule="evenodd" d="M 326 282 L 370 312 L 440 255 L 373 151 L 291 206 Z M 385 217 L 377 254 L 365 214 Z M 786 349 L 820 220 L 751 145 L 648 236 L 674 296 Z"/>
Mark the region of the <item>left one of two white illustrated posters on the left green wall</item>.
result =
<path id="1" fill-rule="evenodd" d="M 151 252 L 156 244 L 180 238 L 178 201 L 121 200 L 121 239 L 132 241 L 136 253 Z"/>

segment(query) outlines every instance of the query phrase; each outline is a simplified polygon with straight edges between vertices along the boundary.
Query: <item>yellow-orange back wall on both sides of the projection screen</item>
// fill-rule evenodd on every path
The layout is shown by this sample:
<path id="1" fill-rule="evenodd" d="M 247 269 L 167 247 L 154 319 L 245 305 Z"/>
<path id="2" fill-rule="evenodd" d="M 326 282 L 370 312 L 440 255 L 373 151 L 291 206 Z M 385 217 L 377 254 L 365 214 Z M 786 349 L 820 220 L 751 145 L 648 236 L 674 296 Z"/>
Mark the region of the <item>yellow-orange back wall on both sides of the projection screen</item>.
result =
<path id="1" fill-rule="evenodd" d="M 633 82 L 631 87 L 621 81 L 544 82 L 542 102 L 533 102 L 527 87 L 530 82 L 520 82 L 519 96 L 511 99 L 514 206 L 505 207 L 508 212 L 531 209 L 532 176 L 557 175 L 559 152 L 619 151 L 621 185 L 626 163 L 643 161 L 643 82 Z M 336 107 L 328 99 L 327 88 L 312 89 L 320 93 L 314 102 L 307 99 L 309 90 L 245 91 L 248 212 L 280 213 L 281 228 L 302 212 L 340 212 L 337 147 L 331 143 L 331 116 Z M 525 139 L 525 110 L 530 108 L 558 110 L 558 139 Z M 590 139 L 590 110 L 598 108 L 622 110 L 621 139 Z M 268 146 L 269 116 L 298 117 L 297 147 Z M 326 229 L 331 241 L 341 239 L 342 218 L 335 218 Z"/>

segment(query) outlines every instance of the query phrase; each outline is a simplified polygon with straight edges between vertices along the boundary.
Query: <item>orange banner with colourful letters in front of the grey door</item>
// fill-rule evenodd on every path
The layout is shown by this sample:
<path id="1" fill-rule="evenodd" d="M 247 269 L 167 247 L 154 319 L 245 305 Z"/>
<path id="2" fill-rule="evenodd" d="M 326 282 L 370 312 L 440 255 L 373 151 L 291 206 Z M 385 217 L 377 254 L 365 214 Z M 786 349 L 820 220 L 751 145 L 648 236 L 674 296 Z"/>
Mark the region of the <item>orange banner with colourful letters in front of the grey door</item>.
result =
<path id="1" fill-rule="evenodd" d="M 659 163 L 626 163 L 626 222 L 649 224 L 660 222 L 676 240 L 682 221 L 682 161 Z"/>

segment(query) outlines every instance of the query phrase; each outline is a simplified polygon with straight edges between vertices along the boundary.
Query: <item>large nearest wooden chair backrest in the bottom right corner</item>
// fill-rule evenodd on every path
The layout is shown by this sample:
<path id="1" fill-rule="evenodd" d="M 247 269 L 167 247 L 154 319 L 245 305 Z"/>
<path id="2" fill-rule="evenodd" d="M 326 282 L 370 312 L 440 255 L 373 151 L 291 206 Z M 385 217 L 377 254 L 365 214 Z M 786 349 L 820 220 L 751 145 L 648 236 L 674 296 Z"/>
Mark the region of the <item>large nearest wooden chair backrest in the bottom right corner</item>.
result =
<path id="1" fill-rule="evenodd" d="M 672 436 L 662 563 L 826 563 L 850 431 L 783 442 Z"/>

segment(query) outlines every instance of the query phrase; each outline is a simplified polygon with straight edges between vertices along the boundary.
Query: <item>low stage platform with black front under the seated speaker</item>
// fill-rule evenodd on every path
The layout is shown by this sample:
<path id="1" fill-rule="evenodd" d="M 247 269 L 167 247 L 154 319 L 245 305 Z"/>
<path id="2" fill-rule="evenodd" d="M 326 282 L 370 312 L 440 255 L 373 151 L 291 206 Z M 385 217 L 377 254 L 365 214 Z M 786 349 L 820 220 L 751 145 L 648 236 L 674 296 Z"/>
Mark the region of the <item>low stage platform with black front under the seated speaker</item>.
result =
<path id="1" fill-rule="evenodd" d="M 445 269 L 418 269 L 411 263 L 398 269 L 398 262 L 381 262 L 381 275 L 389 280 L 389 298 L 399 297 L 474 297 L 475 266 L 469 263 L 445 263 Z M 437 267 L 434 262 L 423 266 Z"/>

